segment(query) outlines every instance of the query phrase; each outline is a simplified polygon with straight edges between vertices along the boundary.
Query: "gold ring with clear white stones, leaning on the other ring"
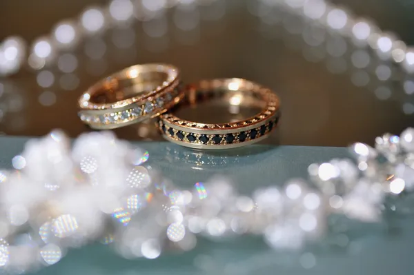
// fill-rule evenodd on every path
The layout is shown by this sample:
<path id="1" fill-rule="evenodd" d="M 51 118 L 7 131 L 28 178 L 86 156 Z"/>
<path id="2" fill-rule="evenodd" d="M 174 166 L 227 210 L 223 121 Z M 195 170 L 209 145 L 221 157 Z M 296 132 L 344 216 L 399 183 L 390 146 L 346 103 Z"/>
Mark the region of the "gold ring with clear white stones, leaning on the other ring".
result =
<path id="1" fill-rule="evenodd" d="M 113 129 L 159 116 L 182 96 L 179 70 L 167 64 L 133 65 L 90 87 L 79 117 L 93 129 Z"/>

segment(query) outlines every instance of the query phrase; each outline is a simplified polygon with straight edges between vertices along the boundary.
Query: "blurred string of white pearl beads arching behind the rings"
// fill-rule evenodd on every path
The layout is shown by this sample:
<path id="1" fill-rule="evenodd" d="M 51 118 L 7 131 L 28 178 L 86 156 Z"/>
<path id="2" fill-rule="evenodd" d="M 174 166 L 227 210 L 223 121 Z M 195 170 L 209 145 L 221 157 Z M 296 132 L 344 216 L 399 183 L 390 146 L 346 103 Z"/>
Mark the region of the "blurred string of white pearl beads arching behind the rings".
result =
<path id="1" fill-rule="evenodd" d="M 0 43 L 0 75 L 8 76 L 28 65 L 41 70 L 56 62 L 58 52 L 75 49 L 82 37 L 96 35 L 107 28 L 130 24 L 133 19 L 148 20 L 174 6 L 209 4 L 221 0 L 112 0 L 105 7 L 92 6 L 81 12 L 79 19 L 64 20 L 46 36 L 34 39 L 30 45 L 21 37 L 13 36 Z M 382 60 L 391 60 L 408 72 L 414 72 L 414 49 L 397 39 L 391 32 L 383 32 L 375 23 L 358 19 L 344 8 L 325 0 L 257 0 L 259 8 L 253 12 L 264 15 L 266 7 L 287 9 L 318 23 L 343 37 L 350 37 L 360 47 L 368 47 Z M 250 3 L 253 3 L 250 2 Z"/>

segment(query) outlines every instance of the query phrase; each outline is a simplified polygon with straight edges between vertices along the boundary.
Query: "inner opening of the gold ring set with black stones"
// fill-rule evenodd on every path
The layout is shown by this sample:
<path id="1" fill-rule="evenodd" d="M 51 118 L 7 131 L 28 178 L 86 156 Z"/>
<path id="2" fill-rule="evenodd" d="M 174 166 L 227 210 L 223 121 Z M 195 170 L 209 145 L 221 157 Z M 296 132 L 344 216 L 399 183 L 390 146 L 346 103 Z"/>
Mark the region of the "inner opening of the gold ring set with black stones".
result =
<path id="1" fill-rule="evenodd" d="M 215 124 L 242 121 L 266 108 L 266 100 L 246 90 L 190 90 L 172 114 L 186 121 Z"/>

